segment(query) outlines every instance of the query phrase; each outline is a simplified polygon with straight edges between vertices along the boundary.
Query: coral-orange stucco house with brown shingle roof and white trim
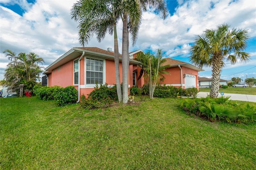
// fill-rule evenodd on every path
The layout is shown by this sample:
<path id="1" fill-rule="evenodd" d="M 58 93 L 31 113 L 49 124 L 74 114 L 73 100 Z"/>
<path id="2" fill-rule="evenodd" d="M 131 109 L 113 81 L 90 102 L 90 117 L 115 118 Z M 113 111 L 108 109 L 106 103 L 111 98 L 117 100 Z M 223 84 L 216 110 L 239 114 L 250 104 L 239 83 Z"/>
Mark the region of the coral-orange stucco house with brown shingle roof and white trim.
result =
<path id="1" fill-rule="evenodd" d="M 142 50 L 130 52 L 129 87 L 144 85 L 143 77 L 138 81 L 140 62 L 134 60 Z M 122 63 L 119 57 L 120 81 L 122 82 Z M 164 75 L 162 85 L 175 87 L 198 88 L 198 71 L 203 71 L 189 63 L 166 58 L 166 65 L 170 65 Z M 73 47 L 45 69 L 42 85 L 67 87 L 73 85 L 78 90 L 79 96 L 88 95 L 94 90 L 96 84 L 116 84 L 114 52 L 98 47 Z"/>

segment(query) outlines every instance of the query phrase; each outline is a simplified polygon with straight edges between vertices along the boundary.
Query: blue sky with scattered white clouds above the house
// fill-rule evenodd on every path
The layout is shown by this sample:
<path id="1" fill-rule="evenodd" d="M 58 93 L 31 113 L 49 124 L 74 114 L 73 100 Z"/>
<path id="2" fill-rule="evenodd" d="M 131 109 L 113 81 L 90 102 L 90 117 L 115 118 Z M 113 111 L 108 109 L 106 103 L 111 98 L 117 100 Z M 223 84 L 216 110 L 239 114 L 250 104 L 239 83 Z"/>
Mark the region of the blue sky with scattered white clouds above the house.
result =
<path id="1" fill-rule="evenodd" d="M 44 67 L 78 42 L 77 24 L 70 18 L 70 8 L 76 0 L 1 0 L 0 1 L 0 79 L 9 62 L 2 53 L 10 49 L 16 53 L 34 52 L 44 58 Z M 226 62 L 221 78 L 256 78 L 256 2 L 254 0 L 166 0 L 169 13 L 162 20 L 154 10 L 143 14 L 138 40 L 129 51 L 160 48 L 164 57 L 189 63 L 189 49 L 197 35 L 204 30 L 227 23 L 231 28 L 248 30 L 250 39 L 246 52 L 248 63 L 231 65 Z M 122 22 L 118 24 L 121 51 Z M 131 44 L 131 43 L 130 43 Z M 98 43 L 92 38 L 88 47 L 114 49 L 113 37 Z M 203 68 L 200 77 L 211 77 L 211 68 Z"/>

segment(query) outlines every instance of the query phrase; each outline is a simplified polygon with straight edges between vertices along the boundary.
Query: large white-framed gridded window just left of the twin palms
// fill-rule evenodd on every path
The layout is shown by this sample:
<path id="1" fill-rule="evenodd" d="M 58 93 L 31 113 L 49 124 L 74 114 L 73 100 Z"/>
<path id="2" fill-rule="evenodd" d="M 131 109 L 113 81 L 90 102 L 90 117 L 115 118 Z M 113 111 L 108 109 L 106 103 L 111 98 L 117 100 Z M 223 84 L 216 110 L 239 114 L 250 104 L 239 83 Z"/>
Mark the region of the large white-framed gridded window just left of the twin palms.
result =
<path id="1" fill-rule="evenodd" d="M 103 84 L 103 61 L 86 58 L 86 84 Z"/>

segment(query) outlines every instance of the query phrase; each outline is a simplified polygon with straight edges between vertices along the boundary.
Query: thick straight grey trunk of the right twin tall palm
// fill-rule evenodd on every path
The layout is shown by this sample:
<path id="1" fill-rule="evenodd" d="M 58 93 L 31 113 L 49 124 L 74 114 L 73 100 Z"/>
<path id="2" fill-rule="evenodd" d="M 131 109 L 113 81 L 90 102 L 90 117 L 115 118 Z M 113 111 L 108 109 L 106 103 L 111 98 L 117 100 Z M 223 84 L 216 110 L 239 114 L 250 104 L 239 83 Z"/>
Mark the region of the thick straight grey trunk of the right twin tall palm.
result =
<path id="1" fill-rule="evenodd" d="M 127 12 L 123 14 L 123 39 L 122 39 L 122 71 L 123 71 L 123 103 L 128 102 L 128 71 L 129 71 L 129 55 L 128 55 L 128 21 Z"/>

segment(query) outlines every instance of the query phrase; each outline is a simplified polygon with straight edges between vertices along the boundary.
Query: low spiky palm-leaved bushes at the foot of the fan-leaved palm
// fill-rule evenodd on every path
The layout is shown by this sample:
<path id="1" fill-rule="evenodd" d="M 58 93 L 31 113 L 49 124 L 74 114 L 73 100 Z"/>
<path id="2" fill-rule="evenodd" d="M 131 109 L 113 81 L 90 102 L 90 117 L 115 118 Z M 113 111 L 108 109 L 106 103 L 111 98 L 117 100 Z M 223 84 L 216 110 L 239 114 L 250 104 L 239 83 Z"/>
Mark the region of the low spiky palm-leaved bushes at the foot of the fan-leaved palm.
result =
<path id="1" fill-rule="evenodd" d="M 180 107 L 187 114 L 208 119 L 211 122 L 225 121 L 228 123 L 255 123 L 256 107 L 237 105 L 230 97 L 182 99 Z"/>

